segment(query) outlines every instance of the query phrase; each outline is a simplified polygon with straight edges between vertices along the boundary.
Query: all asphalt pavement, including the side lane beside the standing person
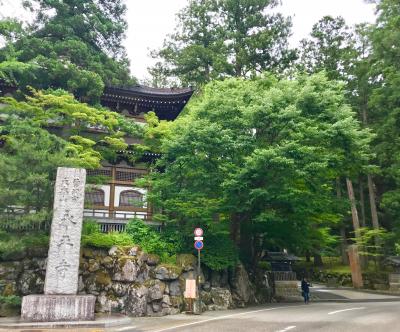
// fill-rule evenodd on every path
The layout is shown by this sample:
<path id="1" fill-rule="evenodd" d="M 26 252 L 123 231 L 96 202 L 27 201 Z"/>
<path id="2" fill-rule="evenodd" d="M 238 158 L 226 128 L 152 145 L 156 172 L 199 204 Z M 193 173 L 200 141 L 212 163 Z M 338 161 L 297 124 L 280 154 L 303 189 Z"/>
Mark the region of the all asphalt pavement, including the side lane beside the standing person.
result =
<path id="1" fill-rule="evenodd" d="M 400 297 L 388 294 L 312 288 L 314 301 L 275 303 L 253 308 L 208 311 L 201 315 L 126 319 L 109 328 L 34 329 L 20 332 L 400 332 Z M 107 319 L 102 317 L 101 319 Z M 109 318 L 111 319 L 111 317 Z M 10 331 L 1 329 L 0 331 Z"/>

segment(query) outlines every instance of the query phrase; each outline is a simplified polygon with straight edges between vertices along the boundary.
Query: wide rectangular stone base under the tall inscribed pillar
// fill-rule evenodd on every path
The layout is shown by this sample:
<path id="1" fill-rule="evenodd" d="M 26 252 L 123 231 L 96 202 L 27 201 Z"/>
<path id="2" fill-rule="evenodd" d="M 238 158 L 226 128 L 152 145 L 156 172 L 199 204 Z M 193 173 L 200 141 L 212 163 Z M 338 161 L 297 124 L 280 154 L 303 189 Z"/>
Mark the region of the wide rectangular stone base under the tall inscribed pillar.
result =
<path id="1" fill-rule="evenodd" d="M 22 298 L 21 318 L 30 322 L 94 320 L 93 295 L 28 295 Z"/>

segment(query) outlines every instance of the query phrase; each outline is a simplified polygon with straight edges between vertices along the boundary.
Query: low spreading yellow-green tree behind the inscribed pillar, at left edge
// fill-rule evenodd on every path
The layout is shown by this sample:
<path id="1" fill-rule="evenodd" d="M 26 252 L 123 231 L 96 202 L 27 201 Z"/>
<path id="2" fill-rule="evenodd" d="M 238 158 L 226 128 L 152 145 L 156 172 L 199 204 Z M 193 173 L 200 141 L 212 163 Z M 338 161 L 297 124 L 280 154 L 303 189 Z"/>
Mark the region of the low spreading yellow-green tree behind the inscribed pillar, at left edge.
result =
<path id="1" fill-rule="evenodd" d="M 119 114 L 79 103 L 64 91 L 33 91 L 22 101 L 7 97 L 0 103 L 0 211 L 4 217 L 12 207 L 22 208 L 21 222 L 48 218 L 58 166 L 98 168 L 127 148 L 125 135 L 137 134 Z"/>

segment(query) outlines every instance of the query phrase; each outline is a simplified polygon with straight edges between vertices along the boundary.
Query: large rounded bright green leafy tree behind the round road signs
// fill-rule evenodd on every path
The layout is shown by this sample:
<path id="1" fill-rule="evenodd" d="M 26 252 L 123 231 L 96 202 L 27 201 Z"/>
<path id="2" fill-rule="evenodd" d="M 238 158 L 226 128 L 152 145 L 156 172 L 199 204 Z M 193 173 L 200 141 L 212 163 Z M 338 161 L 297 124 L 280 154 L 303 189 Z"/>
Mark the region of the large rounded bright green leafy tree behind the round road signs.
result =
<path id="1" fill-rule="evenodd" d="M 150 199 L 182 230 L 230 232 L 254 266 L 264 249 L 320 250 L 340 219 L 334 179 L 369 140 L 322 74 L 212 82 L 163 140 Z"/>

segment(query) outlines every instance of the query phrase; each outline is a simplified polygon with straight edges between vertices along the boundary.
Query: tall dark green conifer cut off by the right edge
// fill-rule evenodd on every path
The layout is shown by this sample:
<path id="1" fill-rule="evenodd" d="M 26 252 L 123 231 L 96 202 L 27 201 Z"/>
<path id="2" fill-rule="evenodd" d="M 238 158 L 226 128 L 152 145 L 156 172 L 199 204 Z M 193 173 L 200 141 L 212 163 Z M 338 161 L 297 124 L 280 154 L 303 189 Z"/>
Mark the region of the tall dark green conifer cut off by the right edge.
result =
<path id="1" fill-rule="evenodd" d="M 382 170 L 378 189 L 383 192 L 384 222 L 399 228 L 400 221 L 400 4 L 382 0 L 377 4 L 377 24 L 370 33 L 373 47 L 373 93 L 369 120 L 377 133 L 374 141 Z"/>

